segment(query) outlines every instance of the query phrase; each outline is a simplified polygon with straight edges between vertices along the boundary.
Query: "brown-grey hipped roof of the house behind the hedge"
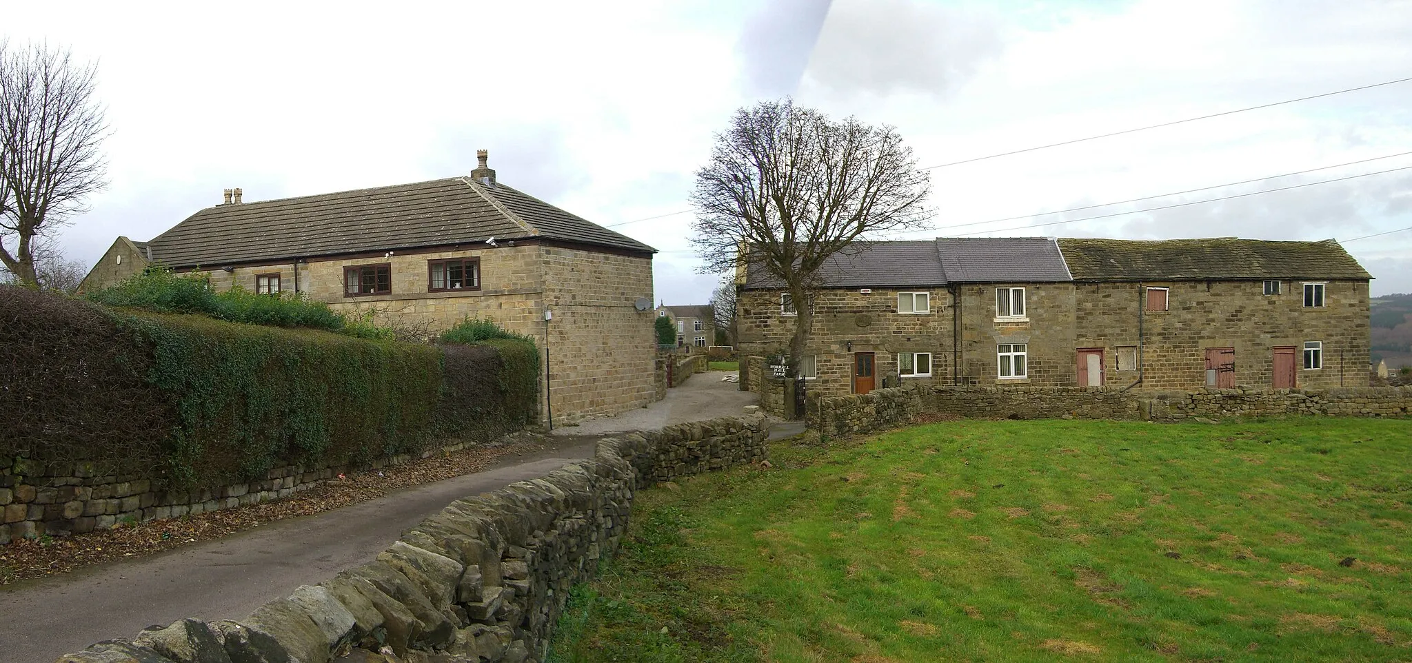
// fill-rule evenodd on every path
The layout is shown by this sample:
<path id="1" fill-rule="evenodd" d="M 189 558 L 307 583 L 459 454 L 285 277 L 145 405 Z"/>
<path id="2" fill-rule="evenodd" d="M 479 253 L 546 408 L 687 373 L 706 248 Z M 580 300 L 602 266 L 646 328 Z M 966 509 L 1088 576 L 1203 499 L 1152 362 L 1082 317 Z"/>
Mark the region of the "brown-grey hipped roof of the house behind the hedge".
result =
<path id="1" fill-rule="evenodd" d="M 168 267 L 292 260 L 459 243 L 551 238 L 652 247 L 503 183 L 470 178 L 206 207 L 147 244 Z"/>

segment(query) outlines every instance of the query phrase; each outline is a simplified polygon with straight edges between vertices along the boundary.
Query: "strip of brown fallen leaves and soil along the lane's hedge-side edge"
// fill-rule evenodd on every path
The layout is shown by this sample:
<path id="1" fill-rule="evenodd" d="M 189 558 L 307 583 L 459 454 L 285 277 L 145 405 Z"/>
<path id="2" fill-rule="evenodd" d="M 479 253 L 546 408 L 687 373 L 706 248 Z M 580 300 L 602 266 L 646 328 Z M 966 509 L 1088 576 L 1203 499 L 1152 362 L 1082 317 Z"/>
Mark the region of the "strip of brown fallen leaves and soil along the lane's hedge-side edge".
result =
<path id="1" fill-rule="evenodd" d="M 349 474 L 274 502 L 147 521 L 137 525 L 119 523 L 113 529 L 56 539 L 17 540 L 8 546 L 0 546 L 0 585 L 25 578 L 58 576 L 104 561 L 143 557 L 202 540 L 219 539 L 271 521 L 322 513 L 377 499 L 402 488 L 484 471 L 508 454 L 522 454 L 541 449 L 544 447 L 534 437 L 525 436 L 508 444 L 466 449 L 397 467 Z"/>

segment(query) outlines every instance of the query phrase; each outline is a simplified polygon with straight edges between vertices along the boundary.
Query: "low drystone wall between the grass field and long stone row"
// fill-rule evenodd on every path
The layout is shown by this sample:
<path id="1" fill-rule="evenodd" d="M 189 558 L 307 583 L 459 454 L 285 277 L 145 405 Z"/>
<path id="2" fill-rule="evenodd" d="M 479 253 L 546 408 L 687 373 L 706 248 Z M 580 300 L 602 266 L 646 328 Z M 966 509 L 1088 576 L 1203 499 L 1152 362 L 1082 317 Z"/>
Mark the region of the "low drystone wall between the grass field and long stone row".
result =
<path id="1" fill-rule="evenodd" d="M 929 413 L 967 419 L 1127 419 L 1231 416 L 1408 416 L 1412 387 L 1123 392 L 1086 387 L 909 387 L 809 396 L 808 422 L 825 434 L 902 426 Z"/>

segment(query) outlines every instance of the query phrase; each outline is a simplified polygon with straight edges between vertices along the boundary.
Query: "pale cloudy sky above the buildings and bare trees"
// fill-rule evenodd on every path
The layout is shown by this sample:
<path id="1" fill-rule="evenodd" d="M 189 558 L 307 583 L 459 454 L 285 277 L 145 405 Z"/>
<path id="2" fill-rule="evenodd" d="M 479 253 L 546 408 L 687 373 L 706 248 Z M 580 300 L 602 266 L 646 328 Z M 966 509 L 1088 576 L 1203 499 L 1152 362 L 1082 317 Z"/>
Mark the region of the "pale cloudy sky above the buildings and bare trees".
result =
<path id="1" fill-rule="evenodd" d="M 507 6 L 510 4 L 510 6 Z M 1412 76 L 1412 3 L 1322 0 L 25 3 L 0 35 L 100 61 L 112 183 L 62 236 L 96 260 L 241 186 L 247 200 L 469 172 L 602 224 L 686 209 L 729 114 L 792 95 L 897 126 L 922 165 Z M 1351 238 L 1412 226 L 1412 83 L 938 168 L 915 233 Z M 706 300 L 689 214 L 617 227 L 662 250 L 657 295 Z M 1412 292 L 1412 231 L 1347 248 Z"/>

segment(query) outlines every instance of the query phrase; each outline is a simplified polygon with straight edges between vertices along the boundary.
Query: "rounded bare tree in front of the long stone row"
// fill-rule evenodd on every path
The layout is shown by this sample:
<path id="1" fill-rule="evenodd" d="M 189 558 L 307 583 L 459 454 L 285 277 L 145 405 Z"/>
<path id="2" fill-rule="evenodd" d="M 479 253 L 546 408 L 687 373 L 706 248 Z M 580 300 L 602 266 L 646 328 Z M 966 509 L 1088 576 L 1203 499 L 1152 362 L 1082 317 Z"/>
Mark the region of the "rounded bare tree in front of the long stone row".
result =
<path id="1" fill-rule="evenodd" d="M 931 179 L 890 126 L 834 121 L 792 100 L 737 110 L 696 172 L 695 243 L 706 272 L 748 260 L 789 293 L 795 375 L 813 327 L 809 292 L 830 257 L 921 226 Z"/>

